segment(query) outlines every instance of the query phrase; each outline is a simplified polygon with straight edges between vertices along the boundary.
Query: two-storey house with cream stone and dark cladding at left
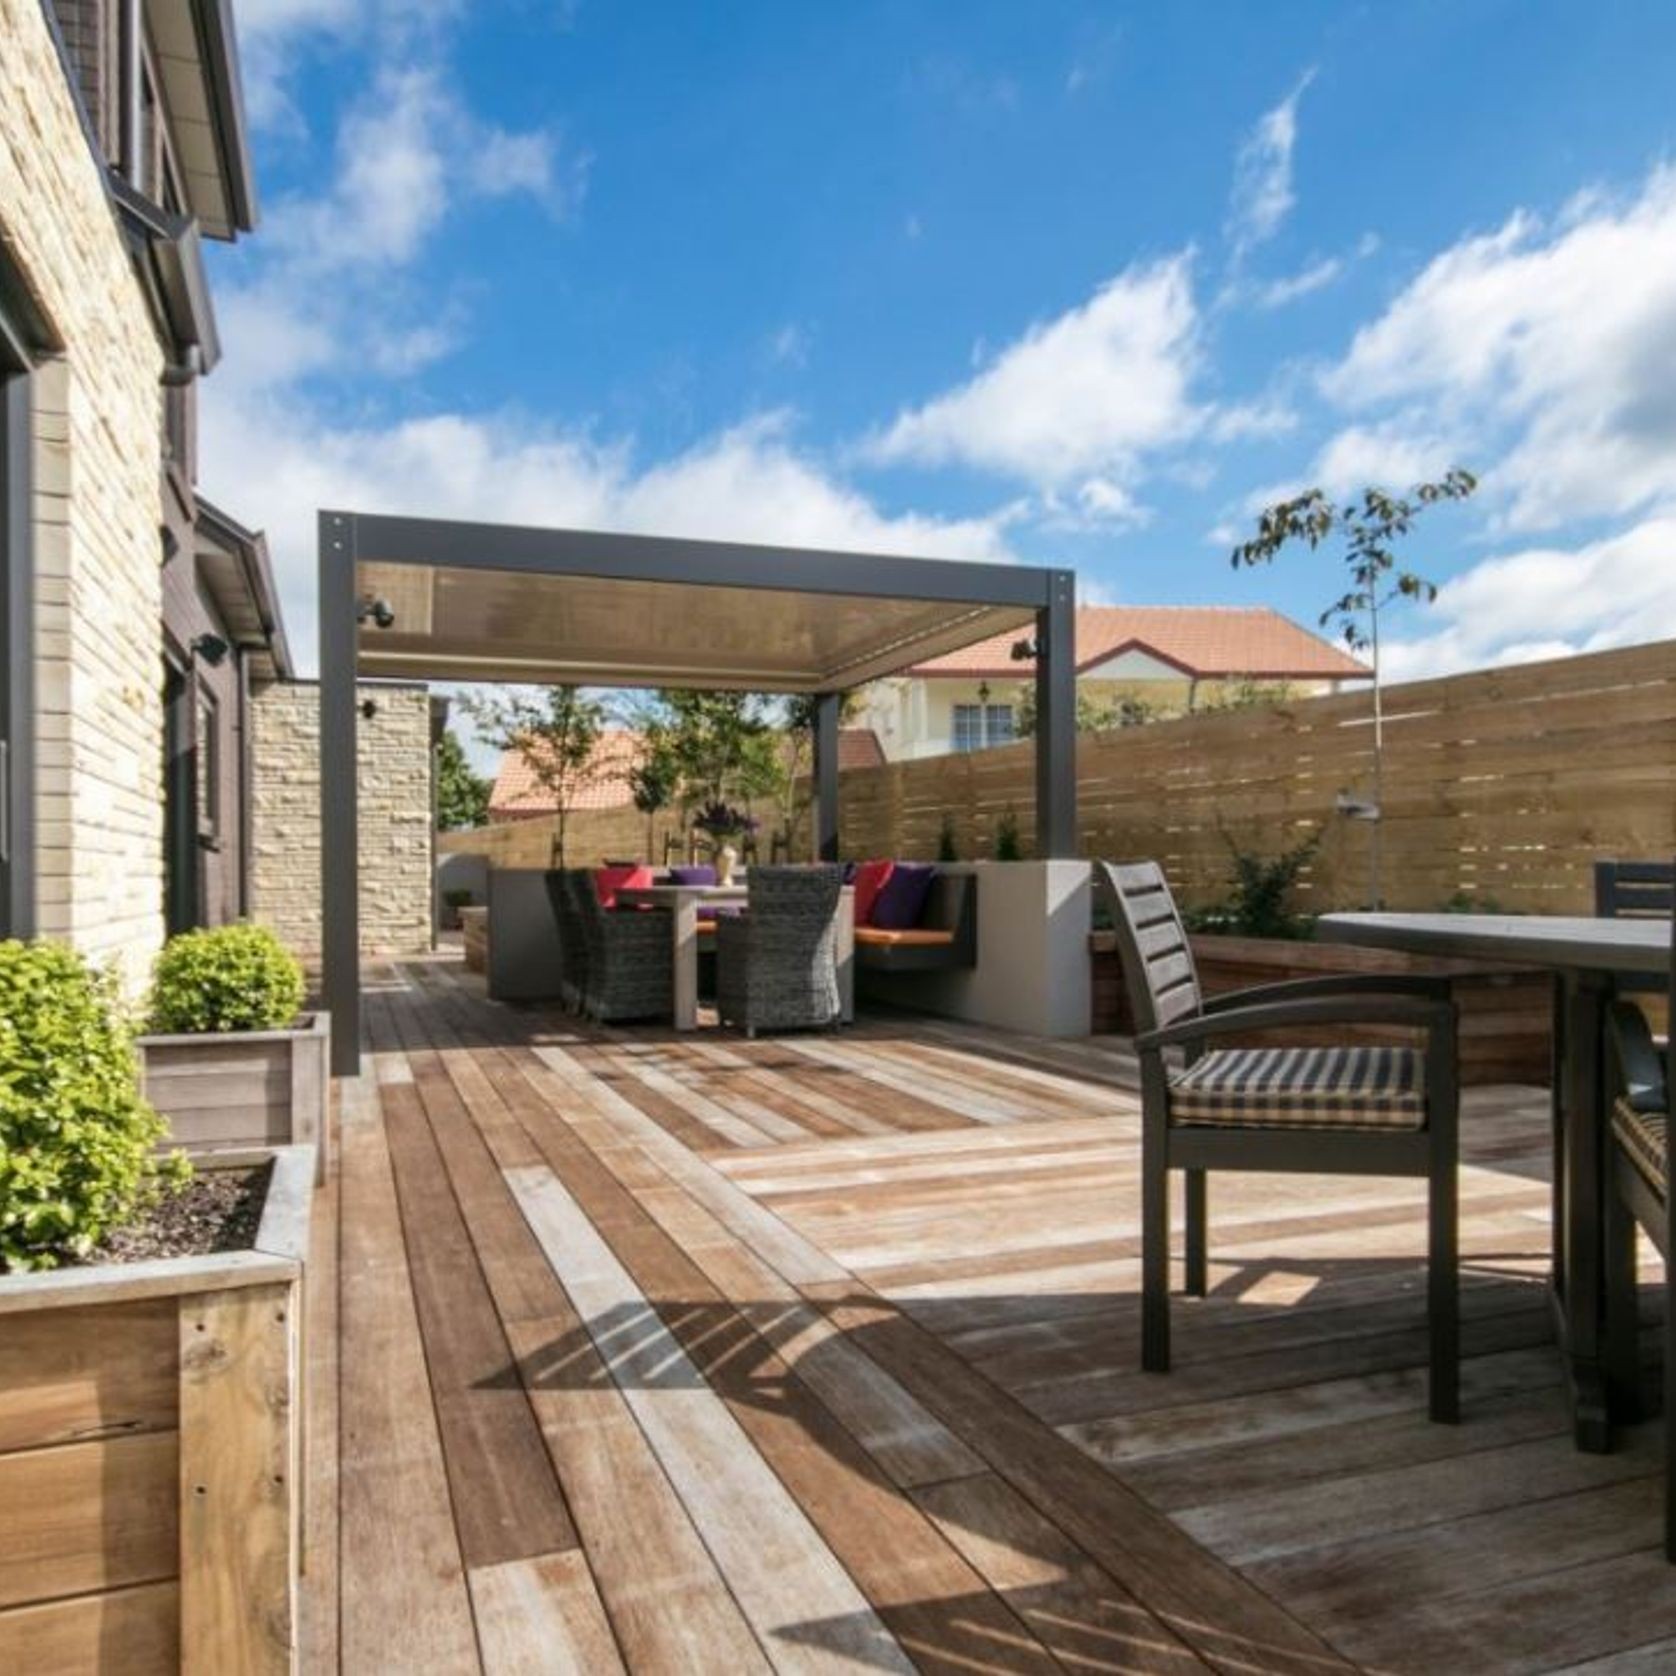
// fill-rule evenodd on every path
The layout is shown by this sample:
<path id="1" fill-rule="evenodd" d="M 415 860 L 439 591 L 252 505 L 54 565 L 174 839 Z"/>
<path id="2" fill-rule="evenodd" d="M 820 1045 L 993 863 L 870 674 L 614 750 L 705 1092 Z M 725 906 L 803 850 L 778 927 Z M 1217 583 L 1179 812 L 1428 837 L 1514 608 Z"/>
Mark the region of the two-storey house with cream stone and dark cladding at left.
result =
<path id="1" fill-rule="evenodd" d="M 0 935 L 137 982 L 251 907 L 263 540 L 196 491 L 201 241 L 256 223 L 230 0 L 0 0 Z"/>

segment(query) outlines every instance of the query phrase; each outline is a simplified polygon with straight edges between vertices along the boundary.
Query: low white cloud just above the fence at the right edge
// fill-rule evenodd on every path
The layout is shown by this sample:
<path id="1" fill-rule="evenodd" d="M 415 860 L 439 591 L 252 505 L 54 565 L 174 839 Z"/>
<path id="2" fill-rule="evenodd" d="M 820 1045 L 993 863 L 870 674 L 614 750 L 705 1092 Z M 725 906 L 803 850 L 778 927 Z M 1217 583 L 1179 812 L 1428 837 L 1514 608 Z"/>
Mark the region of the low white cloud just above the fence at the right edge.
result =
<path id="1" fill-rule="evenodd" d="M 1388 640 L 1393 680 L 1676 637 L 1676 515 L 1577 548 L 1487 558 Z M 1415 632 L 1418 630 L 1418 632 Z"/>

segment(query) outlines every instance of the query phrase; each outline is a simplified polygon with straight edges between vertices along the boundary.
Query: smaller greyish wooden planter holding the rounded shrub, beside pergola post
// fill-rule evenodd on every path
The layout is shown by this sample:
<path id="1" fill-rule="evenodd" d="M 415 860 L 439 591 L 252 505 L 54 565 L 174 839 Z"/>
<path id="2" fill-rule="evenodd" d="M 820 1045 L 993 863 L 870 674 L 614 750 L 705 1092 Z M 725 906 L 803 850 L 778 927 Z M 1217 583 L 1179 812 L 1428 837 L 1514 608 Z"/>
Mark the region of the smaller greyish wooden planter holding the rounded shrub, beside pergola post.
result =
<path id="1" fill-rule="evenodd" d="M 169 1120 L 174 1145 L 313 1146 L 325 1180 L 330 1012 L 307 1012 L 290 1031 L 141 1036 L 139 1054 L 146 1098 Z"/>

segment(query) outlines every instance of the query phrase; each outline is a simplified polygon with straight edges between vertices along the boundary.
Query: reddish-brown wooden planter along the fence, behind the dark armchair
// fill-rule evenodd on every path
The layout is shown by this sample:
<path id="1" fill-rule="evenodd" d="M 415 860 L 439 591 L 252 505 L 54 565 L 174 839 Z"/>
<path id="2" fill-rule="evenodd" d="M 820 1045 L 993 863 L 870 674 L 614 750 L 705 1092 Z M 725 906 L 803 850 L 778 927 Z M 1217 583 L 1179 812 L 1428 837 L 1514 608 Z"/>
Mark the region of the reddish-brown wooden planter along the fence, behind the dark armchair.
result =
<path id="1" fill-rule="evenodd" d="M 1291 942 L 1272 937 L 1197 935 L 1193 964 L 1207 996 L 1259 984 L 1284 984 L 1294 977 L 1322 977 L 1331 972 L 1445 972 L 1453 979 L 1460 1007 L 1461 1083 L 1545 1084 L 1552 1074 L 1554 991 L 1545 972 L 1490 965 L 1472 960 L 1430 960 L 1388 949 L 1356 949 L 1348 944 Z M 1093 1029 L 1096 1034 L 1133 1034 L 1123 965 L 1116 934 L 1089 935 L 1093 962 Z M 1311 1032 L 1319 1039 L 1319 1031 Z M 1240 1044 L 1306 1039 L 1296 1031 L 1229 1037 Z M 1334 1031 L 1346 1042 L 1391 1041 L 1379 1029 Z"/>

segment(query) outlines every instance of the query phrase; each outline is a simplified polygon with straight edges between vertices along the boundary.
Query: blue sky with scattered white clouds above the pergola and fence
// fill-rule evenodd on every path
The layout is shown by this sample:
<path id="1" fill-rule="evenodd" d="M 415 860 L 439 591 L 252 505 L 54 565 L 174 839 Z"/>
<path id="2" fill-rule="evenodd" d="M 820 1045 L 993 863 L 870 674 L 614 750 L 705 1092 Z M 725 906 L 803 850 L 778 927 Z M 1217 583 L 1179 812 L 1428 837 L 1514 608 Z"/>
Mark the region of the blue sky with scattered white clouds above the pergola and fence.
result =
<path id="1" fill-rule="evenodd" d="M 1272 603 L 1267 499 L 1483 483 L 1391 674 L 1676 635 L 1676 10 L 238 0 L 204 488 Z"/>

